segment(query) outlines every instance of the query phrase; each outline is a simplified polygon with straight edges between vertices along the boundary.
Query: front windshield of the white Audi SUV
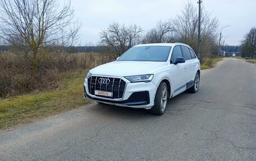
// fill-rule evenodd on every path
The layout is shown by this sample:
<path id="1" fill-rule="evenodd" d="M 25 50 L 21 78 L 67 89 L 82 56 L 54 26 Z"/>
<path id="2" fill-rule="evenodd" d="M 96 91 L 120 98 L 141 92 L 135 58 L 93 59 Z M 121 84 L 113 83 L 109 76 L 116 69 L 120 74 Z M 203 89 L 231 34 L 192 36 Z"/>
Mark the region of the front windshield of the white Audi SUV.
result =
<path id="1" fill-rule="evenodd" d="M 167 46 L 133 47 L 122 54 L 118 61 L 165 62 L 168 59 L 171 48 Z"/>

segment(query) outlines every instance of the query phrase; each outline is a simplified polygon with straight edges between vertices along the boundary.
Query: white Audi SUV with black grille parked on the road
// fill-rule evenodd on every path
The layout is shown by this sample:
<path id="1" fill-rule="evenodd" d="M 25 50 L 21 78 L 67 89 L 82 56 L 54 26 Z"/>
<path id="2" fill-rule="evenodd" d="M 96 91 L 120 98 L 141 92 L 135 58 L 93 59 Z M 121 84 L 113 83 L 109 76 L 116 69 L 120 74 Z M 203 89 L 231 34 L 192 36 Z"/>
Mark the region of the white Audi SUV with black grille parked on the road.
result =
<path id="1" fill-rule="evenodd" d="M 199 88 L 200 62 L 189 45 L 140 44 L 117 61 L 93 68 L 85 78 L 85 98 L 163 114 L 168 98 Z"/>

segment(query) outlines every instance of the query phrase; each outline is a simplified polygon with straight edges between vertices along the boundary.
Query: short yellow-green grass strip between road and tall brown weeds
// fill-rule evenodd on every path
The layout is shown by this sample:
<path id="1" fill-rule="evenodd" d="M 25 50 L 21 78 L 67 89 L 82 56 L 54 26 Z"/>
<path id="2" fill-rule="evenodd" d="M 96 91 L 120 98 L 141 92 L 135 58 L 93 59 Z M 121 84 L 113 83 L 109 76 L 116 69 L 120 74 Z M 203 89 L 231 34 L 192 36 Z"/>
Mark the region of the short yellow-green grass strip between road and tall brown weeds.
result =
<path id="1" fill-rule="evenodd" d="M 0 100 L 0 129 L 30 123 L 90 103 L 83 98 L 85 75 L 86 71 L 58 82 L 60 86 L 56 90 Z"/>

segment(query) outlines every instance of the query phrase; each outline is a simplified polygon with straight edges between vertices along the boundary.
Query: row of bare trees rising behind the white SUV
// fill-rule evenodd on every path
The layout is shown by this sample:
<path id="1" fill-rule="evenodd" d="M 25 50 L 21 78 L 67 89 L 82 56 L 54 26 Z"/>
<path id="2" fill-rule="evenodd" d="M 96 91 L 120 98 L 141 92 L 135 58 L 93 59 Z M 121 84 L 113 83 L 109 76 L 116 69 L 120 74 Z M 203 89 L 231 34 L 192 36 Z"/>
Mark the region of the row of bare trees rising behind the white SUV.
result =
<path id="1" fill-rule="evenodd" d="M 185 43 L 197 51 L 198 44 L 198 9 L 190 1 L 185 4 L 175 19 L 158 21 L 156 27 L 144 31 L 142 27 L 112 22 L 100 32 L 100 42 L 105 52 L 115 59 L 130 47 L 140 43 Z M 218 52 L 218 20 L 207 11 L 202 11 L 201 18 L 202 58 L 215 57 Z"/>

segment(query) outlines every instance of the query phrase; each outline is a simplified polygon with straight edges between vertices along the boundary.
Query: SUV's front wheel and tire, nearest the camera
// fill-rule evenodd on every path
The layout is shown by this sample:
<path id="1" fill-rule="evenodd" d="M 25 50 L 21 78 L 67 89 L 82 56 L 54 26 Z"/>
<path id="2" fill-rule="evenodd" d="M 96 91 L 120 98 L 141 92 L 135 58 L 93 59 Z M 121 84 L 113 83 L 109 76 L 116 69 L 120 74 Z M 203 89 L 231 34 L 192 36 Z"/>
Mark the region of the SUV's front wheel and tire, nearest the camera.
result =
<path id="1" fill-rule="evenodd" d="M 168 88 L 165 82 L 161 82 L 157 88 L 157 93 L 154 99 L 154 106 L 149 109 L 149 112 L 152 114 L 162 115 L 166 110 L 167 100 Z"/>

